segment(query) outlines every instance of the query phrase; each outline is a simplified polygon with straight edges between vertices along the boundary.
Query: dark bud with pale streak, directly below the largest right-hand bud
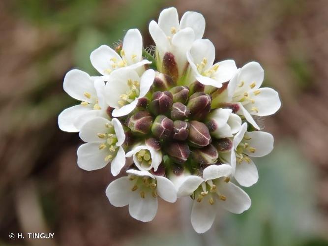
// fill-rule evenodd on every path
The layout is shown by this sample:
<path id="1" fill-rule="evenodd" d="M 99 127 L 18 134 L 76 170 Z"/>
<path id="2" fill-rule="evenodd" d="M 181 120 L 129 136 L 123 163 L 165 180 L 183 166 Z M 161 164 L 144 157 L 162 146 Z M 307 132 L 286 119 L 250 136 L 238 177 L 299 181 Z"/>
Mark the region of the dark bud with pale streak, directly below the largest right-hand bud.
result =
<path id="1" fill-rule="evenodd" d="M 202 149 L 194 149 L 192 151 L 192 159 L 201 165 L 214 164 L 217 162 L 218 157 L 219 153 L 211 144 Z"/>

